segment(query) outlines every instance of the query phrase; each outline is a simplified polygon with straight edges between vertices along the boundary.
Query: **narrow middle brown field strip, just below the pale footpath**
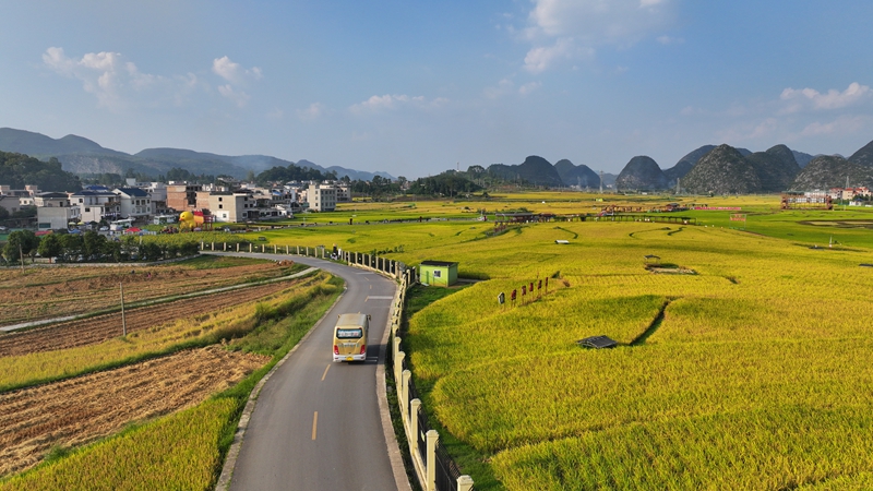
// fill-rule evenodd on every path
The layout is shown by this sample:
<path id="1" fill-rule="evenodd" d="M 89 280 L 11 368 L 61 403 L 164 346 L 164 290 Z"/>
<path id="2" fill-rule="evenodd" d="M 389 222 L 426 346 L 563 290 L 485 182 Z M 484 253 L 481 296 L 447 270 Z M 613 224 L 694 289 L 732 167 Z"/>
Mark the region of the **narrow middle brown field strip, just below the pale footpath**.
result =
<path id="1" fill-rule="evenodd" d="M 260 287 L 208 295 L 198 299 L 178 300 L 132 310 L 125 309 L 124 320 L 128 333 L 176 322 L 179 319 L 210 315 L 227 307 L 256 301 L 289 288 L 291 285 L 294 285 L 291 282 L 278 282 Z M 97 315 L 23 332 L 0 334 L 0 357 L 94 345 L 120 335 L 121 312 Z"/>

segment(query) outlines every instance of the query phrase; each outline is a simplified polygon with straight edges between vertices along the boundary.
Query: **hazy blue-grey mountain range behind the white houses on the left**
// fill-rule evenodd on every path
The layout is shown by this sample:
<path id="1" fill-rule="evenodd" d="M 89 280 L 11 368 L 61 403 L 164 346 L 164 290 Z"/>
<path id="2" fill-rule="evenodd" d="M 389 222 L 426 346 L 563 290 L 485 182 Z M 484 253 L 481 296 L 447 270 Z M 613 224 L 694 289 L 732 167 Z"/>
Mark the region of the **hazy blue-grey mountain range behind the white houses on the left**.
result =
<path id="1" fill-rule="evenodd" d="M 172 168 L 194 175 L 226 175 L 243 179 L 249 171 L 262 172 L 272 167 L 309 167 L 321 172 L 335 171 L 337 177 L 371 180 L 373 176 L 394 179 L 387 172 L 368 172 L 332 166 L 321 167 L 309 160 L 292 163 L 267 155 L 227 156 L 182 148 L 146 148 L 134 155 L 105 148 L 88 139 L 69 134 L 52 139 L 40 133 L 0 128 L 0 151 L 27 154 L 39 159 L 56 157 L 63 170 L 80 176 L 95 173 L 124 175 L 128 169 L 148 176 L 166 173 Z"/>

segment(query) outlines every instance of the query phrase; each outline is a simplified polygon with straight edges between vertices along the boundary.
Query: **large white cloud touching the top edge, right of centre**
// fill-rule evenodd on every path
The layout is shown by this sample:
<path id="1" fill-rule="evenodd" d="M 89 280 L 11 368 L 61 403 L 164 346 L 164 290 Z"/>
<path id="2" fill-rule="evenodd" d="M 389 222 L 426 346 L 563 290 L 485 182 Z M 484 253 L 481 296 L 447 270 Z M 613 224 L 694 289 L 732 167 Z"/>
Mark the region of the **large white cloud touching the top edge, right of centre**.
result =
<path id="1" fill-rule="evenodd" d="M 563 59 L 590 58 L 603 45 L 631 46 L 668 27 L 675 0 L 534 0 L 523 37 L 525 68 L 539 73 Z M 679 41 L 666 36 L 665 40 Z"/>

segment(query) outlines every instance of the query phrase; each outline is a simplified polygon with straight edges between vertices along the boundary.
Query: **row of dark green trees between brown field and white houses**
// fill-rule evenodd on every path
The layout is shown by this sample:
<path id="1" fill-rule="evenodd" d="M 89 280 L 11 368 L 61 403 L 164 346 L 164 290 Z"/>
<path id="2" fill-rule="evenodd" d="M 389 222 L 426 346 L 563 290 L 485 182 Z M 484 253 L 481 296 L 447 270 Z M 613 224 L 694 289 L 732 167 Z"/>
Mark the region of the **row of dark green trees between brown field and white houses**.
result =
<path id="1" fill-rule="evenodd" d="M 120 240 L 108 240 L 93 230 L 85 233 L 49 233 L 37 237 L 31 230 L 16 230 L 9 235 L 3 246 L 3 258 L 15 264 L 39 254 L 56 258 L 64 263 L 158 261 L 198 253 L 195 241 L 176 243 L 141 242 L 140 237 L 124 236 Z"/>

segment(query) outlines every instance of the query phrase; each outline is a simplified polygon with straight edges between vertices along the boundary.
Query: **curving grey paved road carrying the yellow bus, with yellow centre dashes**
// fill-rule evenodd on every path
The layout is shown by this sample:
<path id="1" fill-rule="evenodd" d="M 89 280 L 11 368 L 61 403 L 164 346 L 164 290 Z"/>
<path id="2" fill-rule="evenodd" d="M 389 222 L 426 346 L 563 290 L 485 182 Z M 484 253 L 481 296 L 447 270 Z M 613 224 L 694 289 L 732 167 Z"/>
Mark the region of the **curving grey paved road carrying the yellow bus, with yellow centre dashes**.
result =
<path id="1" fill-rule="evenodd" d="M 375 376 L 396 284 L 375 273 L 326 261 L 291 259 L 342 276 L 348 290 L 261 391 L 230 489 L 397 489 Z M 333 362 L 332 328 L 337 314 L 346 312 L 372 315 L 366 362 Z"/>

